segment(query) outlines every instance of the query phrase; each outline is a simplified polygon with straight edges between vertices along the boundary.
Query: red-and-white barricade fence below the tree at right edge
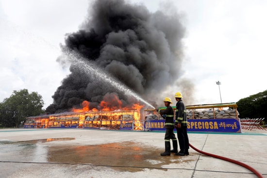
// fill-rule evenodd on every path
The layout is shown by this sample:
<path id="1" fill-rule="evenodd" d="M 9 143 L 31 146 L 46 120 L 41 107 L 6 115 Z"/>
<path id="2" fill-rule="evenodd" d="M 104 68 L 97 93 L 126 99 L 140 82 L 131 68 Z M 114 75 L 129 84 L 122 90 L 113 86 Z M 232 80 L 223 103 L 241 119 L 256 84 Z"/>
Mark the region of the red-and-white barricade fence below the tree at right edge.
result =
<path id="1" fill-rule="evenodd" d="M 264 118 L 242 118 L 240 119 L 241 128 L 245 130 L 252 130 L 252 129 L 260 129 L 260 130 L 267 130 L 261 126 Z"/>

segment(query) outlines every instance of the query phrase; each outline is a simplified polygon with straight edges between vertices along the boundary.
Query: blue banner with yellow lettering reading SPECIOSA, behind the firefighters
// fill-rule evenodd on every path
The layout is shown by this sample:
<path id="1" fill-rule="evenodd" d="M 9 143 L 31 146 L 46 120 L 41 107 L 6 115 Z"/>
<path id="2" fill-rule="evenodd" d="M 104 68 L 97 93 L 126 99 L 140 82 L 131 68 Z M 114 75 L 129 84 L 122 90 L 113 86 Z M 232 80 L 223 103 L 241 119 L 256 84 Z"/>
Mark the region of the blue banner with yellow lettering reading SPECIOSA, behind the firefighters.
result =
<path id="1" fill-rule="evenodd" d="M 145 129 L 165 130 L 165 120 L 148 120 L 145 122 Z M 205 132 L 241 132 L 239 119 L 188 119 L 188 131 Z"/>

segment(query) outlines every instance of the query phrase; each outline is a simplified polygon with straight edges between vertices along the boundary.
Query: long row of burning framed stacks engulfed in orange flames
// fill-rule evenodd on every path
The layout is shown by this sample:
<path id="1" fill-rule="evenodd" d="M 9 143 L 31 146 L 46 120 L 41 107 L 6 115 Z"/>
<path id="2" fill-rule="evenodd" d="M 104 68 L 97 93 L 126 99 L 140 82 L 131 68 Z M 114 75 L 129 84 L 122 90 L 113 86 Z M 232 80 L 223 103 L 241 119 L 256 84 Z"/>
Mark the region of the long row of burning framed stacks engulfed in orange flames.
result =
<path id="1" fill-rule="evenodd" d="M 28 117 L 24 128 L 143 129 L 136 110 L 58 113 Z"/>

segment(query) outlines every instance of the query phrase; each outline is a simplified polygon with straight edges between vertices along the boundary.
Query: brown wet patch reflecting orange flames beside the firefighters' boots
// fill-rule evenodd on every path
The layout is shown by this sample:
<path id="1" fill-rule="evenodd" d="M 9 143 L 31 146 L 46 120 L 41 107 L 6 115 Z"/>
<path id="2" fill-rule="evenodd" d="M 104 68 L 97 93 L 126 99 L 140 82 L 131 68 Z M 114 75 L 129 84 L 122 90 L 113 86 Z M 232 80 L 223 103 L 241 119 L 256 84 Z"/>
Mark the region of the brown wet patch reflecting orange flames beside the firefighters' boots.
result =
<path id="1" fill-rule="evenodd" d="M 135 142 L 68 146 L 66 148 L 50 146 L 48 148 L 48 161 L 109 166 L 117 171 L 130 172 L 193 161 L 190 160 L 190 156 L 181 159 L 181 157 L 175 156 L 173 153 L 171 156 L 160 156 L 163 151 L 163 149 L 143 146 L 141 143 Z"/>

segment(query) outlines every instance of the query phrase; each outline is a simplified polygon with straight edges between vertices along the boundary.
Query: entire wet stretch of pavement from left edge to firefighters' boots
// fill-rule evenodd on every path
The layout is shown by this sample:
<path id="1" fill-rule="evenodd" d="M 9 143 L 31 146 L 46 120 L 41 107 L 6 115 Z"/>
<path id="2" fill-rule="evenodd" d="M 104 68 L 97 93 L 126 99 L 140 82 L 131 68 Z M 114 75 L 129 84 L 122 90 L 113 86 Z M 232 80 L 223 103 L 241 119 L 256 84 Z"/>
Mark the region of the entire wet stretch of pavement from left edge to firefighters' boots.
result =
<path id="1" fill-rule="evenodd" d="M 136 142 L 119 142 L 102 145 L 43 145 L 42 143 L 52 141 L 69 141 L 75 138 L 50 138 L 41 140 L 30 140 L 23 142 L 12 142 L 0 144 L 0 154 L 11 154 L 16 151 L 21 158 L 28 162 L 57 162 L 71 164 L 88 164 L 96 166 L 108 166 L 117 171 L 138 172 L 145 168 L 162 168 L 168 164 L 178 164 L 196 161 L 197 157 L 160 156 L 163 149 L 142 145 Z M 67 142 L 66 142 L 67 143 Z M 42 145 L 40 145 L 42 144 Z M 3 145 L 9 145 L 5 149 Z M 41 147 L 40 147 L 41 146 Z M 39 151 L 38 151 L 39 150 Z M 21 153 L 21 154 L 20 154 Z M 34 153 L 34 154 L 33 154 Z M 6 155 L 8 157 L 8 155 Z M 168 166 L 167 166 L 168 167 Z M 166 170 L 167 169 L 163 169 Z"/>

